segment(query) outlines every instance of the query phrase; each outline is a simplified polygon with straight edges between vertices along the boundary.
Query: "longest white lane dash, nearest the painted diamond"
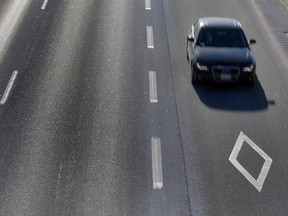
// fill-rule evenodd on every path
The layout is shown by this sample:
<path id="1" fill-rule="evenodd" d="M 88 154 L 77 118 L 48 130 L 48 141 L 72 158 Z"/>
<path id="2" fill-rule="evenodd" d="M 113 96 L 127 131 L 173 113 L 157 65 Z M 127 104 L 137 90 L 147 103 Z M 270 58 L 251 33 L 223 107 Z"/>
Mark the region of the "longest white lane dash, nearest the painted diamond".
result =
<path id="1" fill-rule="evenodd" d="M 151 149 L 152 149 L 153 189 L 162 189 L 163 188 L 163 172 L 162 172 L 160 138 L 158 137 L 151 138 Z"/>

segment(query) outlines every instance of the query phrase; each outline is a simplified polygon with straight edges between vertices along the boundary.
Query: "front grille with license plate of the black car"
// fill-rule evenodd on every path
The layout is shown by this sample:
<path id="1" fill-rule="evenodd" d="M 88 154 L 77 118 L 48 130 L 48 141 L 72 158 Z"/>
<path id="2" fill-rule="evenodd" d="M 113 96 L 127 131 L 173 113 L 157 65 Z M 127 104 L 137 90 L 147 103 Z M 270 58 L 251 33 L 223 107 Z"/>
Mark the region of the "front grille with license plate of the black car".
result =
<path id="1" fill-rule="evenodd" d="M 238 66 L 212 66 L 212 73 L 215 82 L 237 82 L 240 75 L 240 67 Z"/>

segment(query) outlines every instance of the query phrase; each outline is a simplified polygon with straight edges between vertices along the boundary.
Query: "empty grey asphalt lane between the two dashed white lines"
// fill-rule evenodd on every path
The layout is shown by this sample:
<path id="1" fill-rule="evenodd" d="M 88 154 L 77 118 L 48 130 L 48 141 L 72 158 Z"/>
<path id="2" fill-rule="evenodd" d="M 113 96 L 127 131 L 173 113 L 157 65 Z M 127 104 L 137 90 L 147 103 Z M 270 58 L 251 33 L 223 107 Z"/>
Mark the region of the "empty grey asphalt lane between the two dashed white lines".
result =
<path id="1" fill-rule="evenodd" d="M 1 107 L 1 215 L 149 214 L 141 71 L 122 33 L 137 5 L 114 3 L 47 13 Z"/>

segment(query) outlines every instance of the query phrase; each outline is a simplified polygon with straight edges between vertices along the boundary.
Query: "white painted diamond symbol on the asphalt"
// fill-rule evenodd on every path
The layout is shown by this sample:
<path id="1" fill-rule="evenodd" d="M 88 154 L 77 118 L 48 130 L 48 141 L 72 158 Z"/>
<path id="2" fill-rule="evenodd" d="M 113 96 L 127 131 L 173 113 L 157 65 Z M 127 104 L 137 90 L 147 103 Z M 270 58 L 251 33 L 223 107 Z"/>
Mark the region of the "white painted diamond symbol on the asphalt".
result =
<path id="1" fill-rule="evenodd" d="M 237 161 L 238 154 L 241 150 L 243 143 L 246 142 L 250 145 L 264 160 L 261 172 L 257 180 Z M 260 149 L 249 137 L 247 137 L 242 131 L 236 141 L 236 144 L 229 157 L 230 162 L 244 175 L 244 177 L 259 191 L 261 192 L 264 181 L 269 172 L 270 166 L 272 164 L 272 159 Z"/>

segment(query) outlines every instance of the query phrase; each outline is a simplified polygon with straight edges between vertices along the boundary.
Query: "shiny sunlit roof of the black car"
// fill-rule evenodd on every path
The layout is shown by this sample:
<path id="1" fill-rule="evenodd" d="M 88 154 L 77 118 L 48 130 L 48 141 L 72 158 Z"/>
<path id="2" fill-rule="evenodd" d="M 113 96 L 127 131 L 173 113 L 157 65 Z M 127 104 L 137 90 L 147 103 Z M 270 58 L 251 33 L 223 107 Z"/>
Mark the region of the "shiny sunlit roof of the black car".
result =
<path id="1" fill-rule="evenodd" d="M 241 28 L 241 24 L 236 19 L 224 18 L 224 17 L 202 17 L 199 19 L 200 27 L 231 27 Z"/>

